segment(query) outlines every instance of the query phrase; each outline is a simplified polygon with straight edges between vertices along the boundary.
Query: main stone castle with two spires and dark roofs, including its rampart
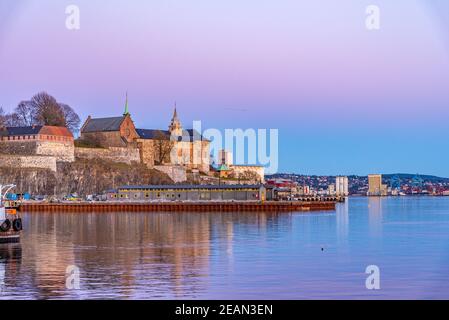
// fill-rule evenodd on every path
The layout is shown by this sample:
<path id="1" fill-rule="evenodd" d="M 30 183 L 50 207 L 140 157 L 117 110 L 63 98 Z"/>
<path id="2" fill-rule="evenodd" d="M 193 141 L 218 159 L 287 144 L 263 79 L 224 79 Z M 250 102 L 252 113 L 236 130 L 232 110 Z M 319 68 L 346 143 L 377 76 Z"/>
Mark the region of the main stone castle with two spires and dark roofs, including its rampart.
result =
<path id="1" fill-rule="evenodd" d="M 194 130 L 184 130 L 175 107 L 168 130 L 138 129 L 128 112 L 120 117 L 92 118 L 81 127 L 77 158 L 103 158 L 167 173 L 174 182 L 186 180 L 186 171 L 210 171 L 210 141 Z M 84 146 L 84 147 L 83 147 Z"/>

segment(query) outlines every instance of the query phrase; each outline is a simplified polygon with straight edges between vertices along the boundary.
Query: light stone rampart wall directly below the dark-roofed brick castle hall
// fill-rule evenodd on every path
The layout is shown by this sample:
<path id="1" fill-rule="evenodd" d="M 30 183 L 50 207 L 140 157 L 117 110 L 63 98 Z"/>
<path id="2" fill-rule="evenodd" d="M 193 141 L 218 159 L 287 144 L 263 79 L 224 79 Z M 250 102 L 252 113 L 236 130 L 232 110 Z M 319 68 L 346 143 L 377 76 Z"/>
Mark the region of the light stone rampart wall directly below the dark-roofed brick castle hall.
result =
<path id="1" fill-rule="evenodd" d="M 75 157 L 78 159 L 101 159 L 118 163 L 140 163 L 138 148 L 75 148 Z"/>

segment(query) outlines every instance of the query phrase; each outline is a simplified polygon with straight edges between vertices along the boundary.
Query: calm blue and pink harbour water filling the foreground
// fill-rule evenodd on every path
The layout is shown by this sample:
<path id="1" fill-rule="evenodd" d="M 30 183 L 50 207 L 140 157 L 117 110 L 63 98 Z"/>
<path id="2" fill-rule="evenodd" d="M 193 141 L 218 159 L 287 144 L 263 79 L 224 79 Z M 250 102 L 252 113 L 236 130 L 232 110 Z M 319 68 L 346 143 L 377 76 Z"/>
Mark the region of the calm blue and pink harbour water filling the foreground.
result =
<path id="1" fill-rule="evenodd" d="M 24 214 L 0 298 L 449 298 L 449 197 L 351 198 L 336 212 Z M 322 250 L 322 248 L 324 250 Z M 377 265 L 381 289 L 365 288 Z M 66 289 L 66 268 L 80 290 Z"/>

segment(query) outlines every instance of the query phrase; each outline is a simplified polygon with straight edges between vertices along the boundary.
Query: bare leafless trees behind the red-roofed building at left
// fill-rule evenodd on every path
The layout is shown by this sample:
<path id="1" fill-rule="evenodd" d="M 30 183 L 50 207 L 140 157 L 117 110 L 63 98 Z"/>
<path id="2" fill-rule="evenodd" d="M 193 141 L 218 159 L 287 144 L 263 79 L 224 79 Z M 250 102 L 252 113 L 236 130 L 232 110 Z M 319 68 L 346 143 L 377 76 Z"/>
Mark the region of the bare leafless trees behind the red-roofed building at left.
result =
<path id="1" fill-rule="evenodd" d="M 6 113 L 0 107 L 0 126 L 57 126 L 67 127 L 76 133 L 80 123 L 80 117 L 69 105 L 58 102 L 47 92 L 40 92 L 31 100 L 21 101 L 12 113 Z"/>

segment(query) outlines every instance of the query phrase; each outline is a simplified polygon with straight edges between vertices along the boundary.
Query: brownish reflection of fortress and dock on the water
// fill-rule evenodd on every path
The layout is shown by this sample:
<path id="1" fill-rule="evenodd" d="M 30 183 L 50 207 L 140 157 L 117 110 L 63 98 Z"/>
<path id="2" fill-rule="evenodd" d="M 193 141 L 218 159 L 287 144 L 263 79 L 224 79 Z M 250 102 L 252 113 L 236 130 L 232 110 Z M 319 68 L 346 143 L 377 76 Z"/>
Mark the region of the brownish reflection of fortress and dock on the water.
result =
<path id="1" fill-rule="evenodd" d="M 265 241 L 277 214 L 110 213 L 25 215 L 23 262 L 32 297 L 195 298 L 207 289 L 211 246 L 232 268 L 234 228 Z M 286 215 L 288 217 L 288 215 Z M 288 221 L 289 218 L 287 218 Z M 251 230 L 251 231 L 250 231 Z M 81 290 L 65 288 L 81 270 Z"/>

